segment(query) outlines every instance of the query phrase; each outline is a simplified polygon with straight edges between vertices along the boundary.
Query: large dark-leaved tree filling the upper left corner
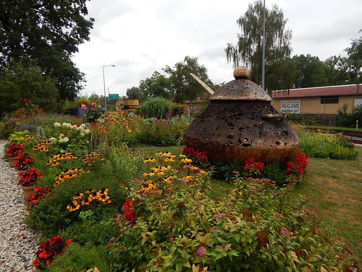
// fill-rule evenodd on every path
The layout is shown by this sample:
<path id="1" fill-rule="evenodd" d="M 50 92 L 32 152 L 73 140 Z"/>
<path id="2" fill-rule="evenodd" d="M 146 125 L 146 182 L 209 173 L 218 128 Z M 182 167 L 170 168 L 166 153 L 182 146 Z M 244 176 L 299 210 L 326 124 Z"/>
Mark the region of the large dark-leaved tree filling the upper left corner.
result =
<path id="1" fill-rule="evenodd" d="M 76 98 L 84 74 L 71 61 L 89 40 L 94 19 L 87 0 L 3 0 L 0 5 L 0 69 L 33 59 L 56 81 L 63 99 Z M 25 57 L 25 58 L 24 58 Z"/>

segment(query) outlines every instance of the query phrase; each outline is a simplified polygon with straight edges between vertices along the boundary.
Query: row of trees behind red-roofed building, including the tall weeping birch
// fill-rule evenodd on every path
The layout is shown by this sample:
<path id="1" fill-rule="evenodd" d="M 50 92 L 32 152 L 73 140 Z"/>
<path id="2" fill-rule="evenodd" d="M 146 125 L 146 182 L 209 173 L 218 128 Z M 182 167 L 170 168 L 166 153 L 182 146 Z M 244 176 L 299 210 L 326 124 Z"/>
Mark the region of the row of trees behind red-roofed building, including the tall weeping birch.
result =
<path id="1" fill-rule="evenodd" d="M 227 44 L 227 61 L 234 67 L 248 66 L 249 79 L 257 84 L 262 80 L 263 44 L 262 1 L 249 4 L 237 20 L 241 32 L 235 45 Z M 325 61 L 311 54 L 291 58 L 292 32 L 285 29 L 288 19 L 277 5 L 265 8 L 265 90 L 289 90 L 320 86 L 362 83 L 362 37 L 354 39 L 344 49 L 347 57 L 333 55 Z M 359 30 L 359 33 L 362 29 Z"/>

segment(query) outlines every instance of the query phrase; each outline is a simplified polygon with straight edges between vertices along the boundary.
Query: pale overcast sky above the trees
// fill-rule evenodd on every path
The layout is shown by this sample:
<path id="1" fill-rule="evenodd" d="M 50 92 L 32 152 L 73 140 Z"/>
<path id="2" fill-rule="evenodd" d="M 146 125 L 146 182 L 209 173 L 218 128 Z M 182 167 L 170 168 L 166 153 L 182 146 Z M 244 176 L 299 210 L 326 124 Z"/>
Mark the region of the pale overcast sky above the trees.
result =
<path id="1" fill-rule="evenodd" d="M 89 16 L 96 19 L 90 41 L 73 57 L 87 79 L 83 94 L 126 94 L 139 81 L 162 73 L 185 56 L 199 58 L 214 83 L 233 78 L 226 61 L 227 43 L 236 44 L 236 20 L 247 11 L 245 0 L 90 0 Z M 311 54 L 324 60 L 346 55 L 351 39 L 362 33 L 361 0 L 266 0 L 278 5 L 292 30 L 292 56 Z M 262 34 L 262 33 L 261 33 Z"/>

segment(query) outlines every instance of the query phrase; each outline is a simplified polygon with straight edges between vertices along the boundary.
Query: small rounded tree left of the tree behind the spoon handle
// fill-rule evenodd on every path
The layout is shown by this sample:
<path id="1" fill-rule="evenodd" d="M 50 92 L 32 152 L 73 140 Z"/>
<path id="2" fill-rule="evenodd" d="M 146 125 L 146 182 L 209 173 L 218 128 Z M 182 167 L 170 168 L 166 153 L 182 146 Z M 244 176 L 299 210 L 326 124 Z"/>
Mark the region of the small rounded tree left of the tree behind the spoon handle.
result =
<path id="1" fill-rule="evenodd" d="M 154 71 L 150 78 L 140 80 L 139 90 L 146 96 L 169 98 L 169 80 L 164 75 Z"/>

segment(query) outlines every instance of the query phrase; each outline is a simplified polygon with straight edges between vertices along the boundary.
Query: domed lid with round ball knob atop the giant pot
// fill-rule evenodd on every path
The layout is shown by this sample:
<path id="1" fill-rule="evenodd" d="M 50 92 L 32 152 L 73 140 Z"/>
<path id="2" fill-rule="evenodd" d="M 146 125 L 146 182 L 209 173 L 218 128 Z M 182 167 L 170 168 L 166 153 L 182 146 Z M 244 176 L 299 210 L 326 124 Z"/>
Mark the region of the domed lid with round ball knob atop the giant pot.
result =
<path id="1" fill-rule="evenodd" d="M 249 69 L 244 66 L 234 70 L 235 80 L 220 87 L 210 100 L 259 100 L 271 101 L 271 97 L 259 85 L 248 80 Z"/>

